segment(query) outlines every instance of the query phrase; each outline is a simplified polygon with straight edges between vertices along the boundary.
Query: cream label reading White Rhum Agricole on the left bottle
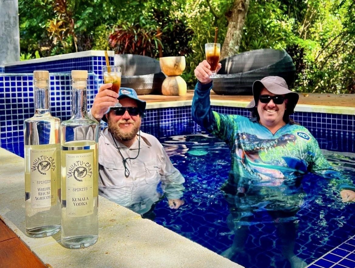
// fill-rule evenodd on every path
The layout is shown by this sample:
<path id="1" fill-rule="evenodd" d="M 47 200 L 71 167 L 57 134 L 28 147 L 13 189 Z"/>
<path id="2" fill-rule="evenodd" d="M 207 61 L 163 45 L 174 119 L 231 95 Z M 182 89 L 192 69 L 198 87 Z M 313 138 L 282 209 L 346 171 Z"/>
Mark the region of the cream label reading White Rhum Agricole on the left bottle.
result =
<path id="1" fill-rule="evenodd" d="M 31 149 L 31 207 L 45 208 L 57 203 L 56 148 Z"/>

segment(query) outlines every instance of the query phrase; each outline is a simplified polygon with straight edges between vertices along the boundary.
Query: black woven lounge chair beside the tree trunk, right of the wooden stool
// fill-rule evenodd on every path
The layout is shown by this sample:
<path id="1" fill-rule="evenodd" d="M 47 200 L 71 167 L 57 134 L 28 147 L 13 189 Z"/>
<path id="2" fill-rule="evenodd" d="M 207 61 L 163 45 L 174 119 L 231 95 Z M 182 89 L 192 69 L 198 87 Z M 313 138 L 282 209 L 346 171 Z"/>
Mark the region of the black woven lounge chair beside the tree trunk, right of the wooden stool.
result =
<path id="1" fill-rule="evenodd" d="M 257 49 L 220 61 L 222 68 L 213 79 L 213 91 L 219 95 L 252 95 L 255 80 L 265 76 L 283 77 L 291 87 L 296 68 L 285 50 Z"/>

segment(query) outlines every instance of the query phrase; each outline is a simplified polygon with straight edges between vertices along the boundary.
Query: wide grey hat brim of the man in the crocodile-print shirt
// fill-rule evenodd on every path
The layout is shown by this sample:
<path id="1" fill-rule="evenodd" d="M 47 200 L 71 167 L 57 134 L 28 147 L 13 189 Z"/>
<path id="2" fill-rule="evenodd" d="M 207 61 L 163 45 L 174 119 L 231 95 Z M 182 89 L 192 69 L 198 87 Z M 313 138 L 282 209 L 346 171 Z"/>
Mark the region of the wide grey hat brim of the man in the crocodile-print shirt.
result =
<path id="1" fill-rule="evenodd" d="M 294 109 L 296 107 L 296 104 L 299 100 L 299 95 L 296 92 L 293 92 L 289 89 L 286 89 L 285 87 L 275 85 L 275 84 L 269 84 L 267 82 L 261 82 L 260 80 L 256 80 L 253 83 L 253 99 L 252 101 L 246 106 L 247 109 L 252 109 L 256 106 L 259 100 L 260 92 L 263 88 L 266 88 L 268 91 L 275 95 L 286 95 L 286 98 L 288 99 L 288 104 L 287 104 L 287 109 L 289 110 L 290 113 L 294 112 Z"/>

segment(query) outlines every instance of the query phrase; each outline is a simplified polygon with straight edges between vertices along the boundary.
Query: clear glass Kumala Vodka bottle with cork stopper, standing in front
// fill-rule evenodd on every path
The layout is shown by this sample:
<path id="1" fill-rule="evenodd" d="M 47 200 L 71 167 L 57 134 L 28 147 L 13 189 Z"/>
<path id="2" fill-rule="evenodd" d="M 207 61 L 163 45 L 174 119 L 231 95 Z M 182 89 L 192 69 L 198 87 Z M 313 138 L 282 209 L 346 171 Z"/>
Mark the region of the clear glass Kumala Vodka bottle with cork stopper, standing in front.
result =
<path id="1" fill-rule="evenodd" d="M 87 115 L 87 71 L 73 70 L 72 117 L 60 125 L 62 245 L 84 248 L 98 238 L 99 123 Z"/>

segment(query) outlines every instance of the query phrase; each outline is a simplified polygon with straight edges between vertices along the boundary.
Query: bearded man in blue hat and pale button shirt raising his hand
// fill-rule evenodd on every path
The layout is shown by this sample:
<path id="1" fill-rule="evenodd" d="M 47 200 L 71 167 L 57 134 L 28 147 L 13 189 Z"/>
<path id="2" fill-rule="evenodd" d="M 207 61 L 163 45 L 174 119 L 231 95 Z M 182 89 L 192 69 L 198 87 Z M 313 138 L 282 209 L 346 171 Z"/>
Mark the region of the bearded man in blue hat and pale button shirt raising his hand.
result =
<path id="1" fill-rule="evenodd" d="M 108 123 L 99 137 L 99 194 L 144 218 L 154 217 L 163 194 L 169 207 L 178 209 L 185 179 L 158 139 L 140 130 L 146 102 L 134 89 L 121 87 L 116 93 L 111 86 L 99 88 L 89 113 Z M 113 107 L 117 103 L 121 107 Z"/>

